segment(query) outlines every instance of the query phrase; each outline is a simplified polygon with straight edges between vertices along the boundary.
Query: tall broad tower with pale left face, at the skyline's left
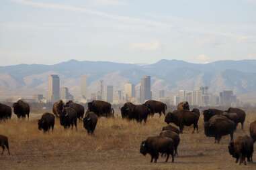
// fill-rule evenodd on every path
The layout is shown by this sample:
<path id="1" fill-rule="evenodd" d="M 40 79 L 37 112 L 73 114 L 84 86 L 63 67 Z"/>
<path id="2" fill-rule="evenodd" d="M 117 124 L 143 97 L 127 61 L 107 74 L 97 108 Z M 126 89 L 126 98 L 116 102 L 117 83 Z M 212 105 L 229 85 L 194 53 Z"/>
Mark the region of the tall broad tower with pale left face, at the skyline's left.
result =
<path id="1" fill-rule="evenodd" d="M 60 100 L 60 78 L 58 75 L 48 77 L 48 101 L 56 102 Z"/>

